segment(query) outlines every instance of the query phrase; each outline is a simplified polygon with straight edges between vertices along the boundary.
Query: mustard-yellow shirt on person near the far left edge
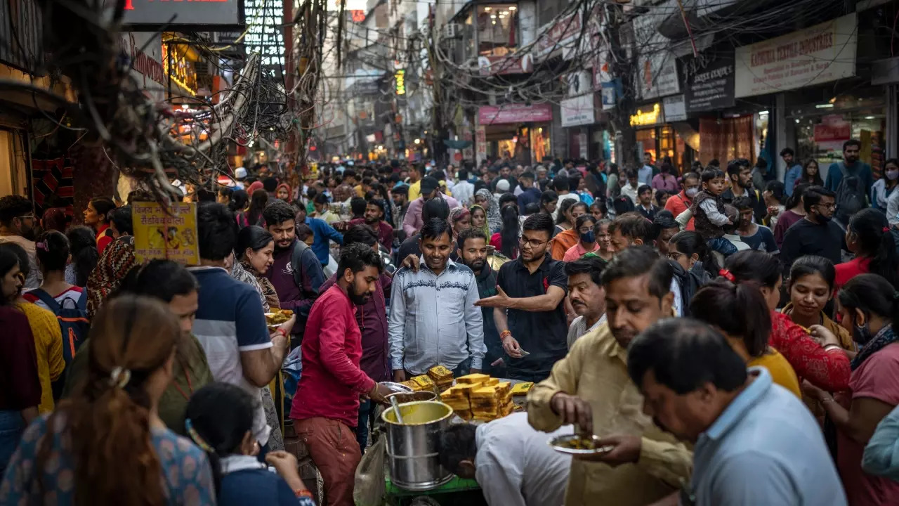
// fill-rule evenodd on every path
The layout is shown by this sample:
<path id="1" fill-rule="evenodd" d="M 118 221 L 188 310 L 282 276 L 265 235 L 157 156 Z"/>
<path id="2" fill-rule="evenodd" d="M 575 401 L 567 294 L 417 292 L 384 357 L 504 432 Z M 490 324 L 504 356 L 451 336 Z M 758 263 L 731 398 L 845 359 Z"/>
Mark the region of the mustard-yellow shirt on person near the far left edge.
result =
<path id="1" fill-rule="evenodd" d="M 62 375 L 66 362 L 62 358 L 62 329 L 52 312 L 33 303 L 16 303 L 28 318 L 34 348 L 38 353 L 38 376 L 40 377 L 40 405 L 38 411 L 53 411 L 53 388 L 50 385 Z"/>

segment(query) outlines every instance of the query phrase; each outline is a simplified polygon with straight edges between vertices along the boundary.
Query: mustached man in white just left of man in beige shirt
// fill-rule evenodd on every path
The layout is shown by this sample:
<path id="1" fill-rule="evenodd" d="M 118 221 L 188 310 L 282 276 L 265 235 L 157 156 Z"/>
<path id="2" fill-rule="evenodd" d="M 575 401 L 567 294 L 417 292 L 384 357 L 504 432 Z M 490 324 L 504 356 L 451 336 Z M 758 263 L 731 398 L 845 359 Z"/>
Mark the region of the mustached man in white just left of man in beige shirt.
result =
<path id="1" fill-rule="evenodd" d="M 602 289 L 602 269 L 606 262 L 594 253 L 587 253 L 574 262 L 565 263 L 568 276 L 568 302 L 578 315 L 568 328 L 568 349 L 587 332 L 597 330 L 606 322 L 606 293 Z"/>

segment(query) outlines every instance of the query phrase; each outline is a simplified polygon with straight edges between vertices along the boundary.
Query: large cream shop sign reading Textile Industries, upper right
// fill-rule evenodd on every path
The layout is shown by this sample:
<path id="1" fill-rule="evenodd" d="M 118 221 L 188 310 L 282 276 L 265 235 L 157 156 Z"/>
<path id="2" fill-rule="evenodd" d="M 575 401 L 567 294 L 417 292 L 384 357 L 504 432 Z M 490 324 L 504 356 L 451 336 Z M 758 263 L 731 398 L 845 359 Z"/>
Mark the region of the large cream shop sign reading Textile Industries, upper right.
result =
<path id="1" fill-rule="evenodd" d="M 855 76 L 856 14 L 737 48 L 734 96 L 763 95 Z"/>

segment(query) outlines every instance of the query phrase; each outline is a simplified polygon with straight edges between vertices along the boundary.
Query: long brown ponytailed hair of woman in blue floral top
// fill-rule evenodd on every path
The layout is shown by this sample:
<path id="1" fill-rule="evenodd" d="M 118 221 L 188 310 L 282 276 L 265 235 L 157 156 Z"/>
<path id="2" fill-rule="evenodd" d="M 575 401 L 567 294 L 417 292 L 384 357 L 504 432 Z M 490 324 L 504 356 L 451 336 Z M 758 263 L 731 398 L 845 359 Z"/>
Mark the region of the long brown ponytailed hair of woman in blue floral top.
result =
<path id="1" fill-rule="evenodd" d="M 170 363 L 180 337 L 172 312 L 147 297 L 111 299 L 93 319 L 86 383 L 48 420 L 49 434 L 62 430 L 71 441 L 75 502 L 167 502 L 150 430 L 147 380 Z M 41 443 L 36 468 L 49 465 L 53 439 Z M 41 490 L 44 474 L 38 473 Z"/>

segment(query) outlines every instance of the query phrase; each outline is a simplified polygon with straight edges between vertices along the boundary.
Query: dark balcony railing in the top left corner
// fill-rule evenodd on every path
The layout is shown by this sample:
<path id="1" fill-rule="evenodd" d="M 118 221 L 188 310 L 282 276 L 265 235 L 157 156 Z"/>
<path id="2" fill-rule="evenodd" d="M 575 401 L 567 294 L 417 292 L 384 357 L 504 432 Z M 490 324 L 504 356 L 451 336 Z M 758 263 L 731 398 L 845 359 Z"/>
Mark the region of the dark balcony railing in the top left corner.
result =
<path id="1" fill-rule="evenodd" d="M 26 72 L 44 63 L 40 8 L 34 0 L 0 0 L 0 62 Z"/>

